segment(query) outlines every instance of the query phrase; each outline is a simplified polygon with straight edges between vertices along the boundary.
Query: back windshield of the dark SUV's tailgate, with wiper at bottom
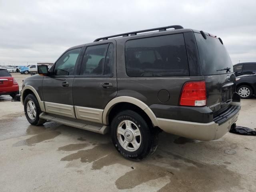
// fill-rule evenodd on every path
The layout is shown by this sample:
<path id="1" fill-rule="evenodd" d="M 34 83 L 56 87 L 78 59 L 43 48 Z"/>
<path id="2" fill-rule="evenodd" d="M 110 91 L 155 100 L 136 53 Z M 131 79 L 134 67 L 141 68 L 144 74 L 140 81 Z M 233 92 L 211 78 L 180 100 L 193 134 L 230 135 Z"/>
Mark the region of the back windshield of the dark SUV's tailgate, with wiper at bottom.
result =
<path id="1" fill-rule="evenodd" d="M 227 67 L 230 68 L 231 72 L 234 71 L 228 52 L 218 38 L 206 36 L 207 39 L 204 39 L 202 34 L 194 34 L 203 75 L 226 74 L 226 70 L 217 70 Z"/>

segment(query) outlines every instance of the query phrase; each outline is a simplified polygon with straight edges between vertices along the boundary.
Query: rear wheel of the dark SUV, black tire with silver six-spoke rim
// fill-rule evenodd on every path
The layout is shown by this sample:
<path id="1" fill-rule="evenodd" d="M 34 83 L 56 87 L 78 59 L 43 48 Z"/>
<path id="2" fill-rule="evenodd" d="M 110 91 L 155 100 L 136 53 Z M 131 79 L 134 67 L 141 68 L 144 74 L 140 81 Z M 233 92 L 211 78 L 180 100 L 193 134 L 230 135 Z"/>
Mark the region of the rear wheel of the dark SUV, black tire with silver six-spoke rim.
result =
<path id="1" fill-rule="evenodd" d="M 141 160 L 153 154 L 158 143 L 158 130 L 132 110 L 118 113 L 111 122 L 112 142 L 122 156 Z"/>

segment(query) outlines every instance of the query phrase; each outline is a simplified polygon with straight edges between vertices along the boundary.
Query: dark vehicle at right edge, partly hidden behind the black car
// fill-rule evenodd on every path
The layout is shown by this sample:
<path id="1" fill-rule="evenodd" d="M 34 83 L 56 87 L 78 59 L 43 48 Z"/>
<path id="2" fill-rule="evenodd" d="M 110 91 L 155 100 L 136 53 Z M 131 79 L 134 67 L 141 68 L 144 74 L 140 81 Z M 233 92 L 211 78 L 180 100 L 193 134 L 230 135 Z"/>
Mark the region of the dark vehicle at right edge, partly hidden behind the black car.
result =
<path id="1" fill-rule="evenodd" d="M 256 62 L 238 63 L 235 64 L 233 67 L 236 76 L 256 73 Z"/>

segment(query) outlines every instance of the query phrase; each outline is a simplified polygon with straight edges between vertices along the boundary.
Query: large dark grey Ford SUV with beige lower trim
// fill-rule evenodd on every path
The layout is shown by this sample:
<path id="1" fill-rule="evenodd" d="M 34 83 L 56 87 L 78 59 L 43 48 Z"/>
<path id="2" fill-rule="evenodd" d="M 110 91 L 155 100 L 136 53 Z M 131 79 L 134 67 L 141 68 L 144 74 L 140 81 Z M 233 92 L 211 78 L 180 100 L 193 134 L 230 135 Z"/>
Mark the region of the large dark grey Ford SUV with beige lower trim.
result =
<path id="1" fill-rule="evenodd" d="M 162 130 L 218 139 L 240 111 L 222 40 L 182 26 L 98 38 L 69 48 L 50 70 L 38 66 L 38 74 L 21 91 L 30 124 L 110 130 L 116 150 L 131 159 L 154 153 Z"/>

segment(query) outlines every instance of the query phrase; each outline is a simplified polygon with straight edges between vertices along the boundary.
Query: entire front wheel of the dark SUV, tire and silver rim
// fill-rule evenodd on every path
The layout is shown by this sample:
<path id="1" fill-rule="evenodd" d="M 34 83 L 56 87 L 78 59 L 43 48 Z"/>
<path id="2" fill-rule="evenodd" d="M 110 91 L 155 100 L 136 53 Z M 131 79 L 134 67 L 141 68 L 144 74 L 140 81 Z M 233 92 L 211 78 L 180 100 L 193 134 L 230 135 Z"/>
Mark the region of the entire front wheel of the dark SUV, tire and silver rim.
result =
<path id="1" fill-rule="evenodd" d="M 28 122 L 32 125 L 42 125 L 46 120 L 39 117 L 41 109 L 36 97 L 28 94 L 24 100 L 24 111 Z"/>

